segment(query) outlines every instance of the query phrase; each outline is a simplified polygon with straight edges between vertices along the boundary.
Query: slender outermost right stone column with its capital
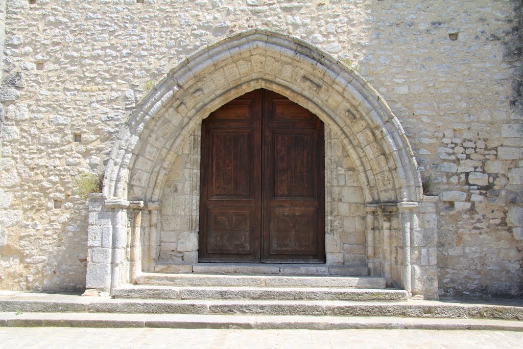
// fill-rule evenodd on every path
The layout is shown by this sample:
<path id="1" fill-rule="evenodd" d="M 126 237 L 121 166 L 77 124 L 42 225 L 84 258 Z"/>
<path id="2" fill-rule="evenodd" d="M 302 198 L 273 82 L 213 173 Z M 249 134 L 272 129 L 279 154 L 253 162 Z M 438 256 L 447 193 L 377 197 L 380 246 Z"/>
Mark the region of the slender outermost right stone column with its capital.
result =
<path id="1" fill-rule="evenodd" d="M 411 216 L 418 204 L 417 202 L 399 202 L 397 207 L 400 211 L 401 286 L 409 296 L 412 296 Z"/>

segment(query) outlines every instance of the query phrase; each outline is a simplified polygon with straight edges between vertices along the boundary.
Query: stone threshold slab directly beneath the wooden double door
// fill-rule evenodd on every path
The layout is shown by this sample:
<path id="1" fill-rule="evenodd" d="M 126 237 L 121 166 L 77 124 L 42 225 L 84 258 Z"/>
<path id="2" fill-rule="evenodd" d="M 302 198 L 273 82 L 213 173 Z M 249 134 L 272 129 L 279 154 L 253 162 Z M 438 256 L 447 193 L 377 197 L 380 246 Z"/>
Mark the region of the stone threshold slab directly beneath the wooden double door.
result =
<path id="1" fill-rule="evenodd" d="M 325 264 L 196 263 L 156 264 L 155 273 L 281 276 L 368 276 L 367 266 Z"/>

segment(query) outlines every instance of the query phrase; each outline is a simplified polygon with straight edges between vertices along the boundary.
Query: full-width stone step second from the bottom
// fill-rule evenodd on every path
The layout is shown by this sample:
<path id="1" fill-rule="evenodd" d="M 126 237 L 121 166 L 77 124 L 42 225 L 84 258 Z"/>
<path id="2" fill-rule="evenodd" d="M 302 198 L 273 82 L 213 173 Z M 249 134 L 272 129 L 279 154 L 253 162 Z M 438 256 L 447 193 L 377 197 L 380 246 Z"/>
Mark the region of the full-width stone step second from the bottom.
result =
<path id="1" fill-rule="evenodd" d="M 505 303 L 503 303 L 505 304 Z M 521 302 L 508 305 L 441 301 L 135 300 L 0 292 L 0 312 L 90 312 L 259 316 L 477 318 L 523 320 Z"/>

